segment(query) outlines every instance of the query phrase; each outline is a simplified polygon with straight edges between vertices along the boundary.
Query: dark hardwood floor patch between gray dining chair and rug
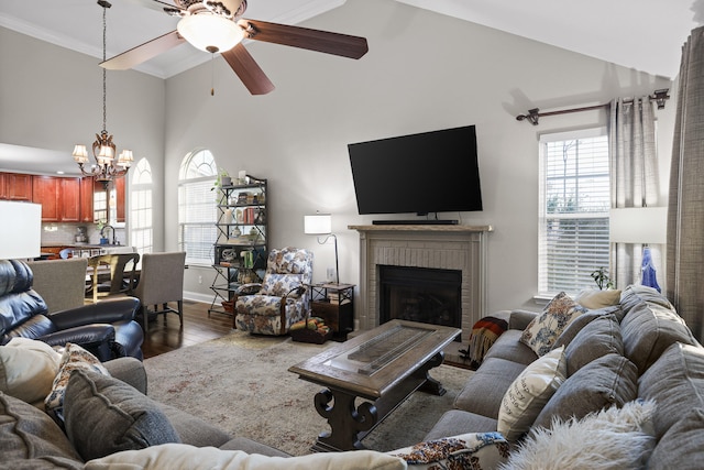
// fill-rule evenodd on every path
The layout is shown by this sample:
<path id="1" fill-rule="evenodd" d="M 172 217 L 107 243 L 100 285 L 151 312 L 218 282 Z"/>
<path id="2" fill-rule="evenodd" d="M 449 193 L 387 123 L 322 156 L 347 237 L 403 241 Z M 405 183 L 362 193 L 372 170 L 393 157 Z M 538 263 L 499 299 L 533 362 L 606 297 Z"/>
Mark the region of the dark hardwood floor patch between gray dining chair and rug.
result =
<path id="1" fill-rule="evenodd" d="M 163 315 L 150 321 L 150 331 L 144 335 L 142 343 L 144 359 L 231 332 L 232 317 L 222 314 L 211 314 L 208 317 L 209 307 L 210 304 L 184 300 L 183 330 L 175 314 L 167 314 L 166 321 Z"/>

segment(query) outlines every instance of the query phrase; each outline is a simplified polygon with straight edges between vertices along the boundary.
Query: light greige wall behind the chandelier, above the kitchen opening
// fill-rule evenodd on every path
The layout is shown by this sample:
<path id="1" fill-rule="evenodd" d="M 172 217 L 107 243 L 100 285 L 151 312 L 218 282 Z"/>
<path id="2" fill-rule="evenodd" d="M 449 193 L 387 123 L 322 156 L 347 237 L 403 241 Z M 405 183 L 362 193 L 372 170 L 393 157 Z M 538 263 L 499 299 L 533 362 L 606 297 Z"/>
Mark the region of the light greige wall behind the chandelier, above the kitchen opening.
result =
<path id="1" fill-rule="evenodd" d="M 65 151 L 90 145 L 102 130 L 100 61 L 0 28 L 0 142 Z M 120 149 L 147 157 L 155 204 L 164 194 L 164 80 L 138 72 L 108 72 L 107 130 Z M 52 172 L 52 168 L 47 168 Z M 162 250 L 163 219 L 154 221 Z"/>

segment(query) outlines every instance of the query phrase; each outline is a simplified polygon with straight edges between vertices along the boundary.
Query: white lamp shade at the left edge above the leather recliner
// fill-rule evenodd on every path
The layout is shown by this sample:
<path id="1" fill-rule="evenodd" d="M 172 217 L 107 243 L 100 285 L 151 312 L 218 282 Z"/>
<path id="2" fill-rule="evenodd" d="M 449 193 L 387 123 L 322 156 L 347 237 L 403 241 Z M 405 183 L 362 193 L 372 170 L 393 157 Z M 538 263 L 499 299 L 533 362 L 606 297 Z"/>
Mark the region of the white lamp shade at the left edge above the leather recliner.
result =
<path id="1" fill-rule="evenodd" d="M 0 260 L 37 258 L 42 247 L 42 205 L 0 201 Z"/>

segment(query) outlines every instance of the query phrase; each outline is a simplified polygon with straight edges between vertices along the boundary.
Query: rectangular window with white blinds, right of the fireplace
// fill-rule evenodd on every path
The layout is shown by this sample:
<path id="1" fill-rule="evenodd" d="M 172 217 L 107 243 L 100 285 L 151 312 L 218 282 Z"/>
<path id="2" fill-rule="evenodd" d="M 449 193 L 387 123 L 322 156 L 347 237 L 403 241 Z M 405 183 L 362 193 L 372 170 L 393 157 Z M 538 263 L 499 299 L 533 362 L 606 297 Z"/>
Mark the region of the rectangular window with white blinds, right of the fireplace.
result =
<path id="1" fill-rule="evenodd" d="M 593 287 L 608 269 L 609 165 L 605 129 L 540 139 L 540 294 Z"/>

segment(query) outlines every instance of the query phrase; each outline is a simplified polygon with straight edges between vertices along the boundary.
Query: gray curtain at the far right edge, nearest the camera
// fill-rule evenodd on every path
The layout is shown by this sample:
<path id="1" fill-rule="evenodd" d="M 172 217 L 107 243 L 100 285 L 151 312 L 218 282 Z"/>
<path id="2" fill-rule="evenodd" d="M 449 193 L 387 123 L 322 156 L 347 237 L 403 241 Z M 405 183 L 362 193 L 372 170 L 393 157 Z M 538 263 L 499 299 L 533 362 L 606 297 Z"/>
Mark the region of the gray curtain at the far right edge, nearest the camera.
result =
<path id="1" fill-rule="evenodd" d="M 682 47 L 668 206 L 667 295 L 704 337 L 704 26 Z"/>

